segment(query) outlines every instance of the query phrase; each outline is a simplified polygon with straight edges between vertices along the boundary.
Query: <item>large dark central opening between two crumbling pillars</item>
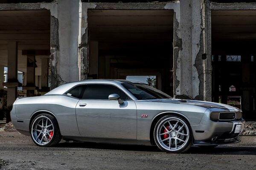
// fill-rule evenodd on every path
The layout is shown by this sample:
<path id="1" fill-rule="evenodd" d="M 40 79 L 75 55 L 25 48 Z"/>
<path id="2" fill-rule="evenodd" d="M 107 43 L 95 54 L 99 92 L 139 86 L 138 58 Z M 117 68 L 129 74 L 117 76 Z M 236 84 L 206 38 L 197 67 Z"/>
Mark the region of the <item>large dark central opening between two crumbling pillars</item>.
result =
<path id="1" fill-rule="evenodd" d="M 172 10 L 88 10 L 90 78 L 156 76 L 172 95 Z"/>

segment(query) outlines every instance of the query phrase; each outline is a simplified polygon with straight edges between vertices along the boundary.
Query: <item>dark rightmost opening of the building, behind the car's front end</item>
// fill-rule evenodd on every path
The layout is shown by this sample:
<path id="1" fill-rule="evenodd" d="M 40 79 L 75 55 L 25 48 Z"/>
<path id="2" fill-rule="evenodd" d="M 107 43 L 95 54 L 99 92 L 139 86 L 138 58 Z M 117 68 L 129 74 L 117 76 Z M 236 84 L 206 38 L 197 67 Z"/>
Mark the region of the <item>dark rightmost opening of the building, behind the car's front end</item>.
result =
<path id="1" fill-rule="evenodd" d="M 213 100 L 256 120 L 256 11 L 212 11 Z"/>

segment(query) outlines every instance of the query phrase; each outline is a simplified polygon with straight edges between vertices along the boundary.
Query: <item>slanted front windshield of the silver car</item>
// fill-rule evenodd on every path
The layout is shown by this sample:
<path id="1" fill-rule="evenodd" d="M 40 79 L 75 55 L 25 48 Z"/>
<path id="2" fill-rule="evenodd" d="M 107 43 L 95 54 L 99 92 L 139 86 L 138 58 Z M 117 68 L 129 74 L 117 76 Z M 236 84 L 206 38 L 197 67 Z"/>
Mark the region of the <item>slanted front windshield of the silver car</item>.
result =
<path id="1" fill-rule="evenodd" d="M 146 99 L 172 99 L 171 96 L 149 85 L 140 83 L 122 83 L 122 86 L 131 92 L 138 100 Z"/>

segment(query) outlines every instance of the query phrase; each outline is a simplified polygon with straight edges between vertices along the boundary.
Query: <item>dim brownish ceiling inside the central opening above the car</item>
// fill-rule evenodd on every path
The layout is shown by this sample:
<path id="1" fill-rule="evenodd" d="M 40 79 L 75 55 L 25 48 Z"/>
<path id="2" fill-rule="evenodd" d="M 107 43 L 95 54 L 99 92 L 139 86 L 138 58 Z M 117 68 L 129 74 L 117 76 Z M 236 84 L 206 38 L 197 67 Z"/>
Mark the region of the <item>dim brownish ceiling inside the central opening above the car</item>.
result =
<path id="1" fill-rule="evenodd" d="M 172 10 L 88 10 L 90 40 L 172 42 Z"/>

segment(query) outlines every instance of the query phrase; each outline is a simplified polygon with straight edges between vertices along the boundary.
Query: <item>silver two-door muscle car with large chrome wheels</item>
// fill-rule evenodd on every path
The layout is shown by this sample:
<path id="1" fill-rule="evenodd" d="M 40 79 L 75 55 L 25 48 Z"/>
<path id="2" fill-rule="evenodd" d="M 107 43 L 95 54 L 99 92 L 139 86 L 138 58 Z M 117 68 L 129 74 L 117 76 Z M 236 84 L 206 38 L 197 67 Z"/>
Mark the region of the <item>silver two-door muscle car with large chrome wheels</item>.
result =
<path id="1" fill-rule="evenodd" d="M 122 144 L 157 144 L 168 153 L 191 145 L 240 142 L 241 110 L 229 105 L 171 96 L 127 80 L 70 82 L 44 96 L 18 98 L 15 128 L 39 146 L 61 139 Z"/>

